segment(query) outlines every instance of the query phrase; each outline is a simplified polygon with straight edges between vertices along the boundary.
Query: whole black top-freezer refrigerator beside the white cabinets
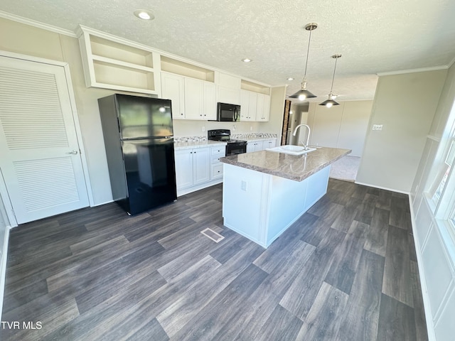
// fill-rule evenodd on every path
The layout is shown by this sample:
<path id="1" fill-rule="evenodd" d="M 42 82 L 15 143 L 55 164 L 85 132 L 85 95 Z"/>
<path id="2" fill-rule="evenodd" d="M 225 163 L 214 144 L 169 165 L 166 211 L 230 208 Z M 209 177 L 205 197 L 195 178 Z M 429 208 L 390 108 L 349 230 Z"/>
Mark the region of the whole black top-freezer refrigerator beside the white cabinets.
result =
<path id="1" fill-rule="evenodd" d="M 112 94 L 98 105 L 114 201 L 136 215 L 176 200 L 171 101 Z"/>

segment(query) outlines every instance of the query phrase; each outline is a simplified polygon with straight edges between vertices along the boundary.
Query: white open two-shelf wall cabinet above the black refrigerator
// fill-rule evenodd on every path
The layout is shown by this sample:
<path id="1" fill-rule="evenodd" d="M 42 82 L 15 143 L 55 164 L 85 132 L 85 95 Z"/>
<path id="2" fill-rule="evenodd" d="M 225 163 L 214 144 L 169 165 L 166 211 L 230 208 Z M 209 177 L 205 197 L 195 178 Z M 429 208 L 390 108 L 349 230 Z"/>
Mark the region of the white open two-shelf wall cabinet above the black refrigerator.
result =
<path id="1" fill-rule="evenodd" d="M 151 48 L 80 26 L 85 85 L 104 89 L 159 94 L 159 54 Z"/>

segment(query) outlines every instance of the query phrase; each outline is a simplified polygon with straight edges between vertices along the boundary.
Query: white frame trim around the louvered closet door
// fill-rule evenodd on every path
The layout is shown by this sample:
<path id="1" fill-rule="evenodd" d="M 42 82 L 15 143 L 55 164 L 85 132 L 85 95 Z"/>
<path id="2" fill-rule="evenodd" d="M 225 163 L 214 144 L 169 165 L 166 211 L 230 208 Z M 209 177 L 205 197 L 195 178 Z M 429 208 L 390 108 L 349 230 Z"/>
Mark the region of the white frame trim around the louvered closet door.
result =
<path id="1" fill-rule="evenodd" d="M 68 95 L 70 97 L 70 106 L 71 106 L 71 112 L 73 114 L 73 121 L 74 121 L 74 125 L 75 125 L 76 136 L 77 136 L 77 144 L 79 145 L 79 149 L 80 149 L 80 158 L 82 161 L 82 172 L 84 173 L 84 178 L 85 178 L 85 188 L 87 190 L 89 205 L 90 205 L 90 207 L 94 206 L 92 185 L 90 183 L 90 174 L 88 172 L 87 158 L 85 156 L 85 148 L 84 148 L 84 143 L 82 141 L 82 131 L 80 129 L 79 117 L 77 115 L 76 99 L 75 99 L 75 95 L 74 95 L 73 82 L 71 81 L 69 63 L 61 62 L 59 60 L 50 60 L 50 59 L 45 59 L 45 58 L 34 57 L 32 55 L 23 55 L 20 53 L 13 53 L 13 52 L 4 51 L 4 50 L 0 50 L 0 56 L 6 57 L 6 58 L 11 58 L 11 59 L 26 60 L 29 62 L 43 63 L 43 64 L 49 64 L 49 65 L 63 67 L 63 70 L 65 72 L 66 85 L 68 87 Z M 6 190 L 5 179 L 4 179 L 3 175 L 1 174 L 1 170 L 0 170 L 0 195 L 1 195 L 1 199 L 4 202 L 4 206 L 5 206 L 5 210 L 6 210 L 6 217 L 9 220 L 9 226 L 10 227 L 18 226 L 16 216 L 14 215 L 13 205 L 11 203 L 11 199 L 9 197 L 8 190 Z"/>

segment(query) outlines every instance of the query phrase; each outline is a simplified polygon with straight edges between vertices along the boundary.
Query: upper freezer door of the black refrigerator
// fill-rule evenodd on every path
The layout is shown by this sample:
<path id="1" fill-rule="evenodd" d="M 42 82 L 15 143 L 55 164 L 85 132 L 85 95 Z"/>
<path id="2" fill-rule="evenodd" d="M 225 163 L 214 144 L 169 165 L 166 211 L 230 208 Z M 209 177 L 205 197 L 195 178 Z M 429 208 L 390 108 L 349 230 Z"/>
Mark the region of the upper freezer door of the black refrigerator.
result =
<path id="1" fill-rule="evenodd" d="M 116 94 L 121 139 L 173 136 L 169 99 Z"/>

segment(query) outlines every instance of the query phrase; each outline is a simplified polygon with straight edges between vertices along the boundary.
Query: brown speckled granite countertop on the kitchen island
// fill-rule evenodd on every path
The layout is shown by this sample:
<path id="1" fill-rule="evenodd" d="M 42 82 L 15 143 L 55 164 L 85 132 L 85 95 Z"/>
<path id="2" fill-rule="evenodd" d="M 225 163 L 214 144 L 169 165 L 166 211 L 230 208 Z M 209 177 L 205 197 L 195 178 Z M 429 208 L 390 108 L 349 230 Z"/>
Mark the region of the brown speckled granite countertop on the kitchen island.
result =
<path id="1" fill-rule="evenodd" d="M 327 147 L 316 148 L 316 151 L 299 156 L 274 151 L 255 151 L 226 156 L 220 158 L 220 161 L 281 178 L 302 181 L 350 152 L 350 149 Z"/>

